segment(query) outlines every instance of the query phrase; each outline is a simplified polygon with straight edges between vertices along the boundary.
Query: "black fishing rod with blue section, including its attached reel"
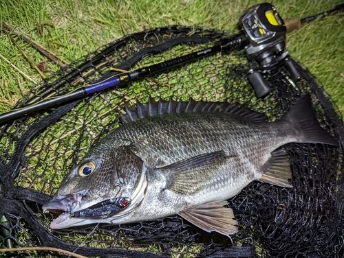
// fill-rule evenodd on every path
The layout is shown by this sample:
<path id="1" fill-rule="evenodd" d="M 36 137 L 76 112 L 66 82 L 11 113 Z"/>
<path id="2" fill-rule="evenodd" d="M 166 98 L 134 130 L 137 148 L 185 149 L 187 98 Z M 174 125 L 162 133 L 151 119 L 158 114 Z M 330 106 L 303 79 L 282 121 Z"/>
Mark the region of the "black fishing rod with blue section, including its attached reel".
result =
<path id="1" fill-rule="evenodd" d="M 246 10 L 246 12 L 241 16 L 239 21 L 241 33 L 222 39 L 219 45 L 187 54 L 185 56 L 180 56 L 178 58 L 173 58 L 171 60 L 166 60 L 135 71 L 119 73 L 107 78 L 106 80 L 82 86 L 71 93 L 66 93 L 64 95 L 44 99 L 45 95 L 49 95 L 49 93 L 47 91 L 43 91 L 41 94 L 38 94 L 41 95 L 41 98 L 43 99 L 31 99 L 29 105 L 26 104 L 25 106 L 0 114 L 0 124 L 23 115 L 43 110 L 44 108 L 69 102 L 73 99 L 78 99 L 113 86 L 118 86 L 125 82 L 131 82 L 138 78 L 143 78 L 147 75 L 170 69 L 175 65 L 182 65 L 186 62 L 191 62 L 205 56 L 210 56 L 219 52 L 230 52 L 235 49 L 244 49 L 248 59 L 257 60 L 259 63 L 258 69 L 249 71 L 248 80 L 254 87 L 257 97 L 263 97 L 270 91 L 270 88 L 264 81 L 261 73 L 266 73 L 276 69 L 281 60 L 285 62 L 286 68 L 290 71 L 292 80 L 299 80 L 297 70 L 293 67 L 292 62 L 288 60 L 288 52 L 284 51 L 286 48 L 286 33 L 298 30 L 299 27 L 301 27 L 301 24 L 308 23 L 316 18 L 343 10 L 344 4 L 341 4 L 337 5 L 336 8 L 330 11 L 322 12 L 321 14 L 316 14 L 301 20 L 292 19 L 284 22 L 275 7 L 270 3 L 255 5 Z"/>

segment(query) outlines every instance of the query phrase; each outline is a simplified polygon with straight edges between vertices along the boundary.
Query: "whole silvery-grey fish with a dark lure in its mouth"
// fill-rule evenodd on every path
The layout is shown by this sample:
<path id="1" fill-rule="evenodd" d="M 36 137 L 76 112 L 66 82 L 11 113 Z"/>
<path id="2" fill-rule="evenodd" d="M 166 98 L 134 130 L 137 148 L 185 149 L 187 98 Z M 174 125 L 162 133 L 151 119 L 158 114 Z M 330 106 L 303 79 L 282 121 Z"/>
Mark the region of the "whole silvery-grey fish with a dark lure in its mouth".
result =
<path id="1" fill-rule="evenodd" d="M 226 102 L 159 100 L 125 105 L 122 125 L 85 154 L 44 212 L 63 229 L 125 224 L 178 214 L 230 237 L 238 224 L 226 200 L 254 180 L 292 187 L 286 143 L 338 145 L 321 128 L 310 94 L 281 119 Z"/>

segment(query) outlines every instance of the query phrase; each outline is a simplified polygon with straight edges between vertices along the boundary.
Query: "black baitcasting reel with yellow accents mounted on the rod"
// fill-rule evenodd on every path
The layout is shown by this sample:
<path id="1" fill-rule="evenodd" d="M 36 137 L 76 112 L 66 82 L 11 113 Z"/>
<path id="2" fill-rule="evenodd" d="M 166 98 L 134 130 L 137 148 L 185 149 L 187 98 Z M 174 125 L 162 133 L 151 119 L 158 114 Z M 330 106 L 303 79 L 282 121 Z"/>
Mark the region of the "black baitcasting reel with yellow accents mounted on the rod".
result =
<path id="1" fill-rule="evenodd" d="M 239 21 L 248 45 L 244 48 L 249 60 L 256 60 L 258 69 L 250 69 L 248 80 L 255 89 L 257 97 L 270 92 L 261 73 L 271 73 L 283 63 L 290 78 L 297 82 L 301 75 L 288 58 L 286 49 L 287 27 L 276 8 L 270 3 L 261 3 L 246 10 Z"/>

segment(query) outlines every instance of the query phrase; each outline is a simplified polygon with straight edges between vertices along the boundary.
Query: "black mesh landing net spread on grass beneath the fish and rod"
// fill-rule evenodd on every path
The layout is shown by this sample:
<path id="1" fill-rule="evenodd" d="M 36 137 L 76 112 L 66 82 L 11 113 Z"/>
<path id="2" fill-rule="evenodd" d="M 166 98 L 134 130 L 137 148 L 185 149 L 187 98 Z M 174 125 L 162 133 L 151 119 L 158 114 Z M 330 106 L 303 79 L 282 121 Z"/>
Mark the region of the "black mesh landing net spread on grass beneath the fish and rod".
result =
<path id="1" fill-rule="evenodd" d="M 45 89 L 51 95 L 69 92 L 116 74 L 111 68 L 138 69 L 205 49 L 226 36 L 230 35 L 171 26 L 120 38 L 33 86 L 17 106 Z M 264 74 L 272 88 L 264 99 L 257 99 L 247 80 L 257 63 L 240 50 L 178 65 L 1 125 L 1 248 L 52 246 L 96 257 L 343 257 L 343 123 L 319 82 L 295 65 L 302 75 L 297 83 L 283 66 Z M 120 125 L 124 102 L 145 103 L 149 96 L 238 102 L 274 121 L 308 92 L 319 123 L 340 147 L 285 145 L 294 188 L 253 182 L 228 200 L 239 222 L 233 243 L 178 215 L 133 224 L 49 228 L 54 215 L 43 213 L 42 204 L 87 150 Z M 48 250 L 6 255 L 56 257 Z"/>

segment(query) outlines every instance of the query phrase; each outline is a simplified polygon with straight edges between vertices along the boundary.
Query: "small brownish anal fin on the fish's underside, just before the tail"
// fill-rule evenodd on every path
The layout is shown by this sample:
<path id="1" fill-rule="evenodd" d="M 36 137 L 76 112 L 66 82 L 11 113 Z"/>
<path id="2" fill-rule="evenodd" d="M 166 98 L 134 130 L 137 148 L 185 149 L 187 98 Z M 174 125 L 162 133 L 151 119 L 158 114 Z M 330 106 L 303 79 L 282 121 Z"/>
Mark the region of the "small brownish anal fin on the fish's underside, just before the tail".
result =
<path id="1" fill-rule="evenodd" d="M 272 152 L 270 162 L 270 169 L 259 178 L 259 181 L 280 187 L 292 187 L 288 182 L 288 179 L 292 178 L 292 172 L 290 172 L 290 163 L 286 151 Z"/>

